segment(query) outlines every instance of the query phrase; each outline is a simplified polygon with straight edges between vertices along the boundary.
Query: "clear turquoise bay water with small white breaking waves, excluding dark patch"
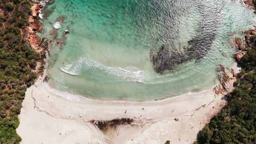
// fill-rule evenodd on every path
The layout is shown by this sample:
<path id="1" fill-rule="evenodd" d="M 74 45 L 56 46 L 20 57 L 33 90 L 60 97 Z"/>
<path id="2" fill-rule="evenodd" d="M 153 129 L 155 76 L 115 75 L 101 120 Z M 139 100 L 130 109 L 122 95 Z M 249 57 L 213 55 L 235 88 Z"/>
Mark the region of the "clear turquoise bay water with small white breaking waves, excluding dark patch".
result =
<path id="1" fill-rule="evenodd" d="M 51 33 L 56 18 L 64 17 L 57 38 L 69 30 L 66 44 L 50 49 L 49 83 L 58 90 L 102 99 L 161 99 L 189 91 L 212 89 L 216 67 L 234 63 L 230 36 L 252 27 L 253 11 L 240 0 L 55 0 L 44 20 Z M 210 37 L 209 37 L 210 36 Z M 167 45 L 185 51 L 209 48 L 199 60 L 156 73 L 150 50 Z"/>

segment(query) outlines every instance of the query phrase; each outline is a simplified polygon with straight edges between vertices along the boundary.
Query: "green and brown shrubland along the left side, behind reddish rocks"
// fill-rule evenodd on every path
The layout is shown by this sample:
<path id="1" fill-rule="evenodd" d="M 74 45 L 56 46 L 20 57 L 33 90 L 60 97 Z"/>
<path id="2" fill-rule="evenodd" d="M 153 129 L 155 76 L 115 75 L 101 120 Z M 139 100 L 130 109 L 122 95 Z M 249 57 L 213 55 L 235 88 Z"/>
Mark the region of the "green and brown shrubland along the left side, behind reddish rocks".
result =
<path id="1" fill-rule="evenodd" d="M 27 43 L 29 0 L 0 3 L 0 144 L 18 144 L 18 114 L 27 87 L 33 84 L 40 55 Z"/>

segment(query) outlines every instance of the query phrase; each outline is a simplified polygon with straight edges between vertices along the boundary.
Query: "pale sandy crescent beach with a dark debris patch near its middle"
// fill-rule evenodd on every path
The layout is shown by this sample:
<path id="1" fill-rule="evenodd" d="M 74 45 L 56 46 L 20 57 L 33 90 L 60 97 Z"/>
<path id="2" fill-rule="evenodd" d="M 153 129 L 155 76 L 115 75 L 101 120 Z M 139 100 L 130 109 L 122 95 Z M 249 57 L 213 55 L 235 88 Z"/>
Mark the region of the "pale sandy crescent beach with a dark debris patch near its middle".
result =
<path id="1" fill-rule="evenodd" d="M 68 92 L 59 91 L 62 94 L 57 95 L 48 91 L 45 74 L 39 75 L 35 84 L 27 89 L 18 116 L 20 144 L 164 144 L 166 140 L 192 144 L 198 131 L 227 104 L 225 95 L 220 92 L 215 96 L 213 90 L 149 101 L 91 99 L 72 93 L 64 98 L 63 93 Z M 70 100 L 73 95 L 76 100 Z M 134 122 L 110 127 L 107 131 L 91 123 L 116 118 L 130 118 Z M 35 134 L 38 131 L 40 133 Z"/>

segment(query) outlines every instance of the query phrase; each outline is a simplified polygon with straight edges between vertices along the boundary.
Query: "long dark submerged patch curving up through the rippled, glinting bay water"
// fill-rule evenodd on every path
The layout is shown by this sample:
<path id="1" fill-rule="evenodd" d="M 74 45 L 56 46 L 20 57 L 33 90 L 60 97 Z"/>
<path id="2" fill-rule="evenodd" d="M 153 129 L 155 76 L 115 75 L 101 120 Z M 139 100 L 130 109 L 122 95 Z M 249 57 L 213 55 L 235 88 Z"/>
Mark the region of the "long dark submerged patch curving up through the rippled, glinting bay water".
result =
<path id="1" fill-rule="evenodd" d="M 163 73 L 165 70 L 174 70 L 176 65 L 191 60 L 200 61 L 211 49 L 221 23 L 219 21 L 221 17 L 219 11 L 222 8 L 209 8 L 203 2 L 199 2 L 198 9 L 200 9 L 201 15 L 200 25 L 196 29 L 196 35 L 188 41 L 188 46 L 176 48 L 170 41 L 169 43 L 171 44 L 167 42 L 157 51 L 150 50 L 150 60 L 153 63 L 155 72 Z"/>

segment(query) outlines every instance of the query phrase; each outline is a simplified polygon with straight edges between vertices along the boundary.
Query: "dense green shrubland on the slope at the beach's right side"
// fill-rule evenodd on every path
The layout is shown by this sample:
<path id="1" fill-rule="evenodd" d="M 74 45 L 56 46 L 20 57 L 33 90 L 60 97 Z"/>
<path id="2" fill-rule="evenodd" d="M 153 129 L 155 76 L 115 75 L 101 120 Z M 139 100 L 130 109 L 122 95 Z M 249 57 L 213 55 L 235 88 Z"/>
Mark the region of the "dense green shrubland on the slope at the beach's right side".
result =
<path id="1" fill-rule="evenodd" d="M 238 64 L 241 72 L 228 104 L 197 135 L 194 144 L 256 144 L 256 36 Z"/>

